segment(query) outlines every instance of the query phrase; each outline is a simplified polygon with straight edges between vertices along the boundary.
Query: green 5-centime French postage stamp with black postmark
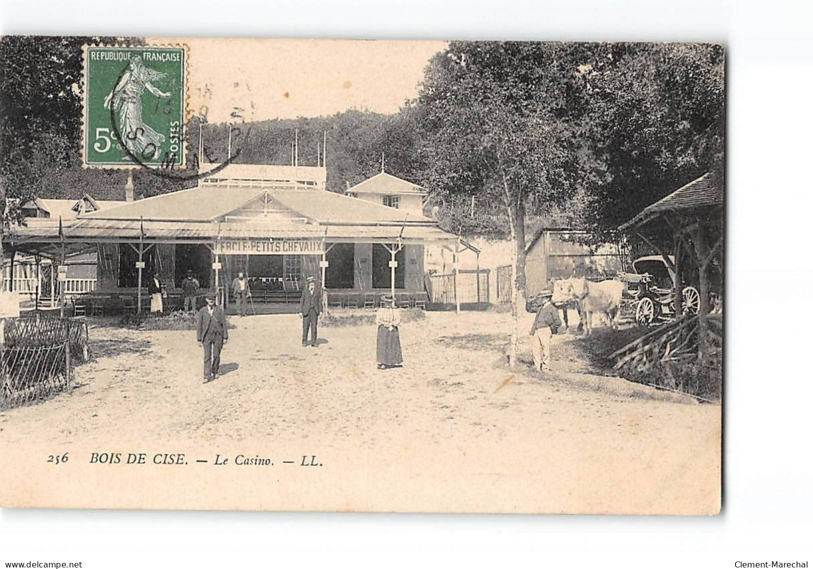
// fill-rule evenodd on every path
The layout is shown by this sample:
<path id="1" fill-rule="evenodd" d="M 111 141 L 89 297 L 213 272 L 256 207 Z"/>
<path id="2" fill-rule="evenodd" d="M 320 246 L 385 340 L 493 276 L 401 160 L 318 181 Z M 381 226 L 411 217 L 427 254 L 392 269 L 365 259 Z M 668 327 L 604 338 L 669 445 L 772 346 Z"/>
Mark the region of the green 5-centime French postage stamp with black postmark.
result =
<path id="1" fill-rule="evenodd" d="M 85 46 L 83 165 L 186 167 L 185 46 Z"/>

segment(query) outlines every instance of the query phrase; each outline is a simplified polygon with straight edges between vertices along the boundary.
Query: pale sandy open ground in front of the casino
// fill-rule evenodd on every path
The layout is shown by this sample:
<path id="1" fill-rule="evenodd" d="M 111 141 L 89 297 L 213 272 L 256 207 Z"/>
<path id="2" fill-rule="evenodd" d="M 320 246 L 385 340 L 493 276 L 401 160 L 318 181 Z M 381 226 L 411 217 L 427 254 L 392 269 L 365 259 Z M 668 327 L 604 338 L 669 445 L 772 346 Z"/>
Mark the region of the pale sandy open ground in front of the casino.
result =
<path id="1" fill-rule="evenodd" d="M 85 451 L 124 451 L 123 441 L 135 441 L 147 450 L 191 446 L 200 456 L 216 447 L 329 461 L 329 476 L 300 477 L 250 499 L 235 489 L 202 499 L 189 489 L 201 476 L 163 474 L 149 475 L 162 484 L 154 498 L 119 497 L 129 480 L 121 475 L 109 482 L 105 506 L 680 514 L 720 507 L 720 406 L 616 397 L 546 380 L 525 365 L 512 371 L 502 356 L 508 315 L 428 313 L 402 327 L 404 367 L 385 371 L 376 369 L 372 326 L 320 327 L 320 347 L 302 348 L 297 315 L 232 321 L 223 375 L 205 385 L 193 332 L 91 328 L 94 359 L 76 368 L 69 393 L 0 414 L 0 451 L 68 449 L 85 463 Z M 554 338 L 554 377 L 589 371 L 572 339 Z M 81 473 L 97 471 L 83 464 Z M 28 476 L 45 475 L 31 467 Z M 7 491 L 33 492 L 24 482 Z M 29 502 L 56 492 L 38 489 Z"/>

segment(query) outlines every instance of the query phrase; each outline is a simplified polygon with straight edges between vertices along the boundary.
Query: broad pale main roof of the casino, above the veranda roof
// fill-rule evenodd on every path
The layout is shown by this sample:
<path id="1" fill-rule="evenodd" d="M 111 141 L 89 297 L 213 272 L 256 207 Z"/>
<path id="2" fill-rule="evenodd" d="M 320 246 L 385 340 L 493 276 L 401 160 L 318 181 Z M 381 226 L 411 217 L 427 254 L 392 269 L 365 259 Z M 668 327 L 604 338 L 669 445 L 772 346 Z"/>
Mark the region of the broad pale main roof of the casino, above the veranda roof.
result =
<path id="1" fill-rule="evenodd" d="M 226 188 L 215 185 L 181 189 L 137 202 L 125 202 L 120 206 L 81 215 L 80 219 L 218 221 L 263 196 L 317 224 L 402 224 L 405 221 L 435 223 L 423 215 L 409 214 L 392 207 L 323 190 Z"/>

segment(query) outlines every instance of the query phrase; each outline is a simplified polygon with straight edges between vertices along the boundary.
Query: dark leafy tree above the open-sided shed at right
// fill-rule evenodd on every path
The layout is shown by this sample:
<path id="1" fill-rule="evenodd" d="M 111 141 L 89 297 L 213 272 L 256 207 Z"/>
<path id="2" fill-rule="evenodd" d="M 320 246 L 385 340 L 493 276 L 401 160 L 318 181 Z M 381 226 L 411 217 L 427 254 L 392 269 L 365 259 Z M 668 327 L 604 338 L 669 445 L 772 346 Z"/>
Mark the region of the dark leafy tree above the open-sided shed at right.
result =
<path id="1" fill-rule="evenodd" d="M 604 235 L 705 172 L 723 180 L 722 46 L 606 44 L 582 69 L 573 97 L 603 170 L 585 226 Z"/>

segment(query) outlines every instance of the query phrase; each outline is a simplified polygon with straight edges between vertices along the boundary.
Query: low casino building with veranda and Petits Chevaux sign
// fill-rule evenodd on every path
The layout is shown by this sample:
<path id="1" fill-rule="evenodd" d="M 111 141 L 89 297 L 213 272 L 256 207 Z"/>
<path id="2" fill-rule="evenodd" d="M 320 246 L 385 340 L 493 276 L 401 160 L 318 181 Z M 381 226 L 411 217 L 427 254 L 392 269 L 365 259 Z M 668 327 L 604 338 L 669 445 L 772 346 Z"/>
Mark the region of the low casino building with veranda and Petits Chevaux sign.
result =
<path id="1" fill-rule="evenodd" d="M 38 220 L 7 241 L 54 264 L 95 252 L 100 312 L 149 306 L 154 273 L 172 306 L 187 271 L 226 306 L 239 271 L 255 305 L 276 311 L 293 309 L 307 276 L 334 306 L 377 306 L 385 291 L 402 306 L 425 302 L 424 246 L 467 244 L 423 215 L 424 190 L 383 171 L 346 194 L 328 191 L 326 179 L 324 167 L 229 164 L 195 188 L 141 200 L 128 180 L 127 201 Z"/>

